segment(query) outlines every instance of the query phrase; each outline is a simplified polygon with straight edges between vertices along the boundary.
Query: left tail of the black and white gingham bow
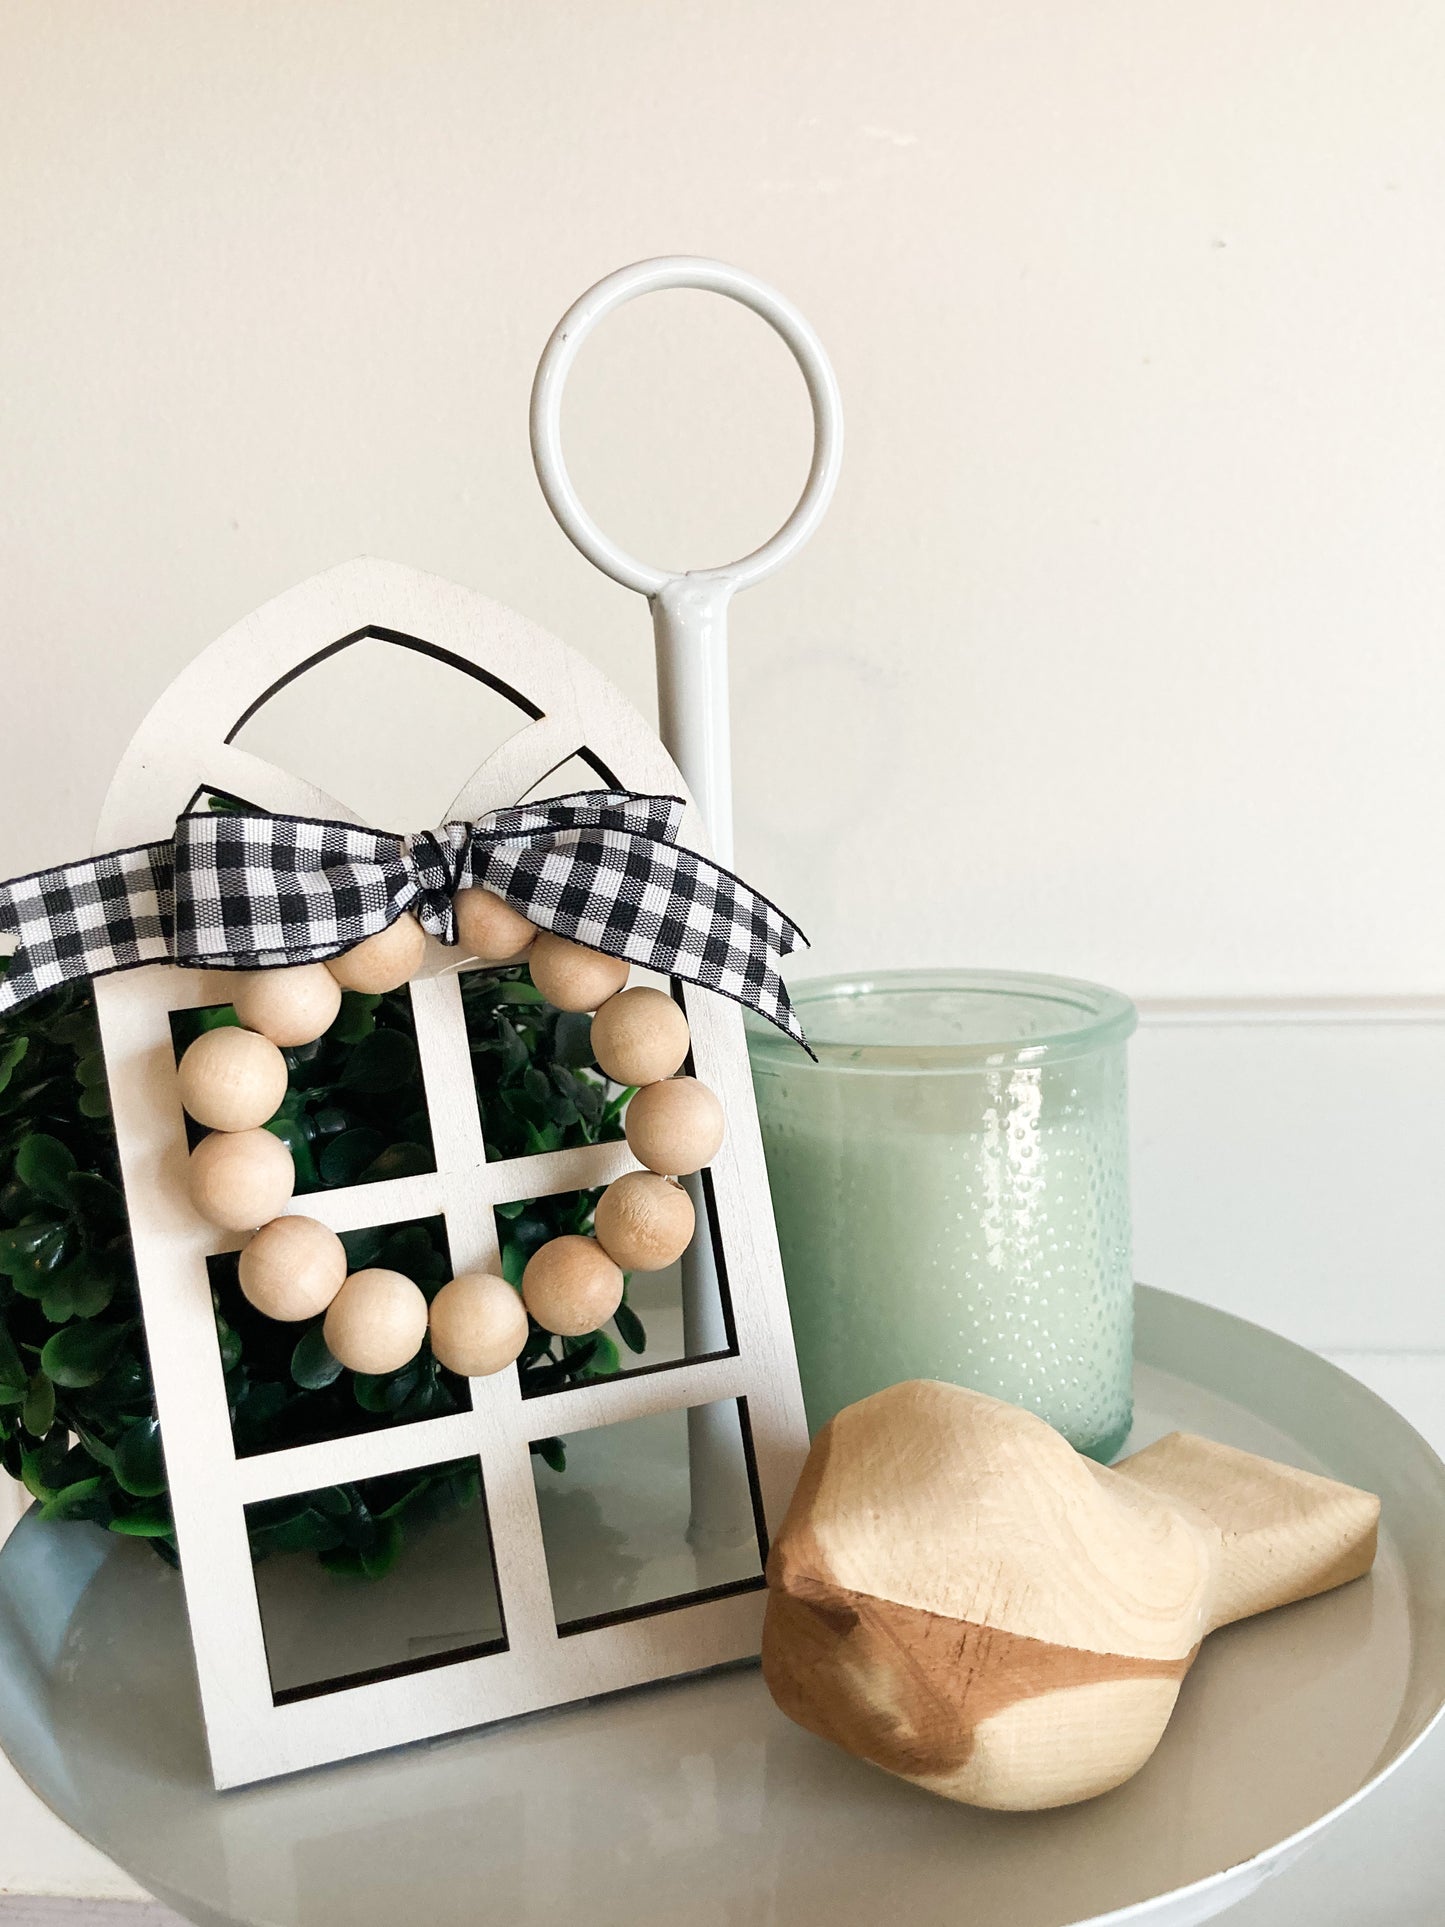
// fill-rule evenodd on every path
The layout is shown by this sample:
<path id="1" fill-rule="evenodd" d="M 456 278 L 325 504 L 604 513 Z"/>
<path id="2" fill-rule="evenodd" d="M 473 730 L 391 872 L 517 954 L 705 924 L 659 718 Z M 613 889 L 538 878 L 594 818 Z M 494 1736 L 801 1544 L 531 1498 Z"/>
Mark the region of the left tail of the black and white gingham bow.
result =
<path id="1" fill-rule="evenodd" d="M 0 931 L 17 937 L 0 1016 L 85 977 L 175 960 L 175 850 L 137 844 L 0 884 Z"/>

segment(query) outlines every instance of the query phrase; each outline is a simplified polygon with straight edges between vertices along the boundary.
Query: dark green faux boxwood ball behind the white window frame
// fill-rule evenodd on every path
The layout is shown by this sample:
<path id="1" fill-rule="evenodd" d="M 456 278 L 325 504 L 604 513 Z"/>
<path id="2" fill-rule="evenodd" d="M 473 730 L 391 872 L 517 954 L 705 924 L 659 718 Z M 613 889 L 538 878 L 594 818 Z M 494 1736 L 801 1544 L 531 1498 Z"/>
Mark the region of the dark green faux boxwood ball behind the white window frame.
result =
<path id="1" fill-rule="evenodd" d="M 0 969 L 4 962 L 0 960 Z M 622 1135 L 628 1091 L 595 1069 L 590 1017 L 553 1010 L 526 967 L 462 977 L 466 1035 L 489 1158 L 518 1158 Z M 229 1006 L 173 1019 L 183 1050 L 235 1023 Z M 291 1150 L 297 1195 L 434 1168 L 410 1000 L 347 992 L 331 1029 L 287 1050 L 287 1095 L 268 1125 Z M 599 1193 L 507 1204 L 503 1272 L 512 1285 L 538 1245 L 588 1231 Z M 434 1297 L 453 1276 L 441 1220 L 353 1231 L 353 1270 L 405 1272 Z M 237 1453 L 277 1451 L 464 1409 L 466 1382 L 424 1347 L 399 1372 L 345 1372 L 322 1320 L 285 1326 L 254 1312 L 235 1258 L 212 1260 L 216 1343 Z M 626 1303 L 613 1328 L 630 1351 L 645 1333 Z M 607 1332 L 559 1339 L 532 1326 L 522 1389 L 551 1391 L 618 1368 Z M 565 1468 L 561 1439 L 532 1447 Z M 58 990 L 0 1019 L 0 1465 L 46 1518 L 89 1518 L 175 1557 L 166 1466 L 119 1191 L 116 1135 L 94 1004 Z M 314 1551 L 337 1572 L 380 1576 L 408 1526 L 478 1497 L 474 1461 L 387 1474 L 249 1509 L 254 1557 Z"/>

